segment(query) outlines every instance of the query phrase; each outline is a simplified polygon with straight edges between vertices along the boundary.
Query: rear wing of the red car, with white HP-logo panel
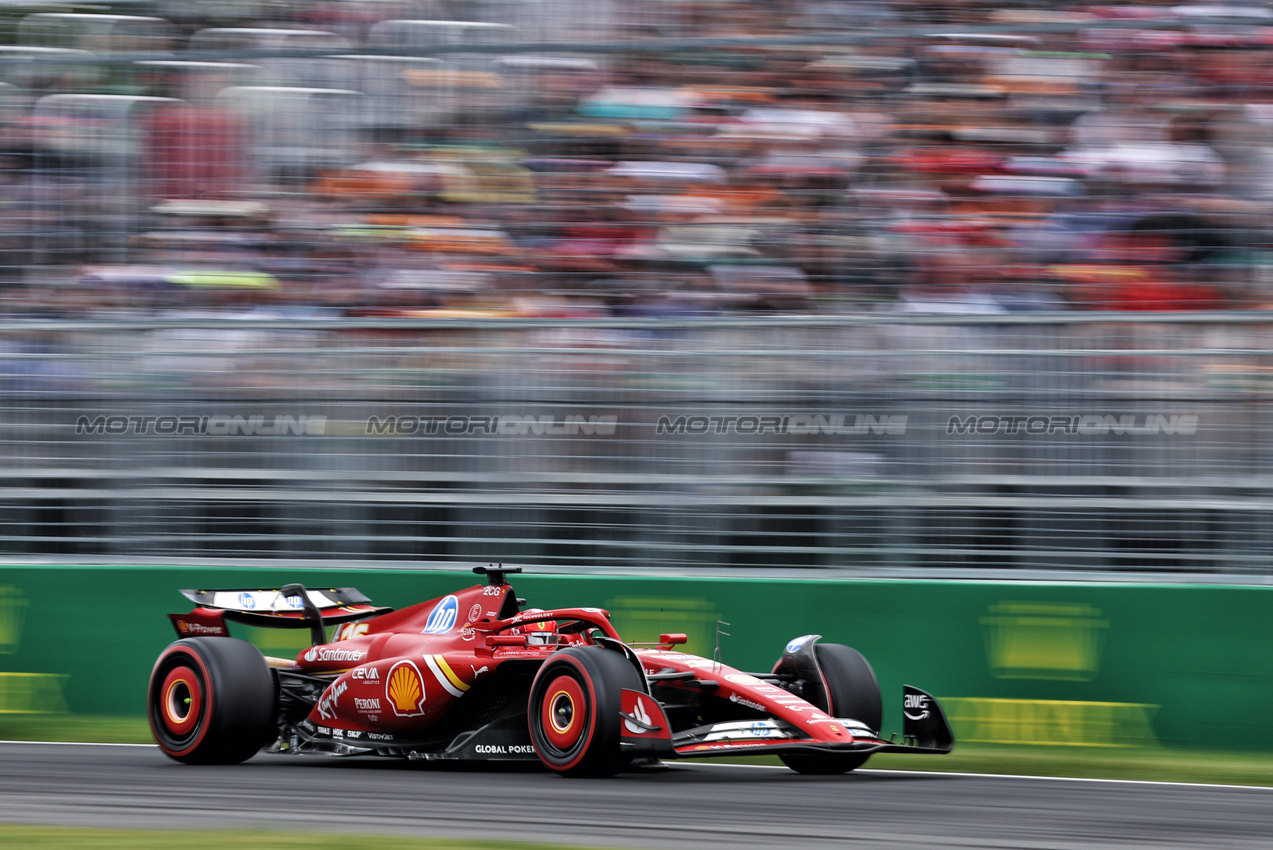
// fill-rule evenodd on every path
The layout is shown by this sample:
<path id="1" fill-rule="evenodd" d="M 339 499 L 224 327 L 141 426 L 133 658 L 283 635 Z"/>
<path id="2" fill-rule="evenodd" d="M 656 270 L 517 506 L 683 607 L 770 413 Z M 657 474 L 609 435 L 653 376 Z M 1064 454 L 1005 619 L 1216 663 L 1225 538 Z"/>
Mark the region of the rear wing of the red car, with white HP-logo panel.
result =
<path id="1" fill-rule="evenodd" d="M 177 634 L 228 636 L 225 621 L 267 629 L 309 629 L 314 644 L 326 643 L 323 626 L 388 613 L 393 608 L 370 604 L 354 588 L 314 588 L 286 584 L 281 588 L 182 590 L 195 603 L 190 613 L 171 613 Z"/>

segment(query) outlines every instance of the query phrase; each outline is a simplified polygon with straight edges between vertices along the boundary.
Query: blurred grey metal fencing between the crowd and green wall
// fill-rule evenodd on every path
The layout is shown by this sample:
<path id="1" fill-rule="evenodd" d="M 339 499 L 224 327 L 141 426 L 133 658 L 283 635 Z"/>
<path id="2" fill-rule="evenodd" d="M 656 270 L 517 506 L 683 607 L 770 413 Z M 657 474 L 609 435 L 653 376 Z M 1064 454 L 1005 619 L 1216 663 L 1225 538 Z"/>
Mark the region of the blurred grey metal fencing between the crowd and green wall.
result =
<path id="1" fill-rule="evenodd" d="M 1267 576 L 1258 314 L 0 327 L 0 552 Z"/>

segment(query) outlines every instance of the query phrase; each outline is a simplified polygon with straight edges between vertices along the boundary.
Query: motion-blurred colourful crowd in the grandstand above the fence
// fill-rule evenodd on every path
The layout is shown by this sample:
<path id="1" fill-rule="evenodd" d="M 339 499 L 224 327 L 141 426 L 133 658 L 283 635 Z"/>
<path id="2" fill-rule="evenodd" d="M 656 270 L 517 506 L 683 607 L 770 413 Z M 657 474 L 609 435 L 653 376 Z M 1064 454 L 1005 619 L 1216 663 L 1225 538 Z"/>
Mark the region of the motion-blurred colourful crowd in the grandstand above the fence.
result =
<path id="1" fill-rule="evenodd" d="M 107 5 L 5 6 L 0 316 L 1273 302 L 1268 4 Z"/>

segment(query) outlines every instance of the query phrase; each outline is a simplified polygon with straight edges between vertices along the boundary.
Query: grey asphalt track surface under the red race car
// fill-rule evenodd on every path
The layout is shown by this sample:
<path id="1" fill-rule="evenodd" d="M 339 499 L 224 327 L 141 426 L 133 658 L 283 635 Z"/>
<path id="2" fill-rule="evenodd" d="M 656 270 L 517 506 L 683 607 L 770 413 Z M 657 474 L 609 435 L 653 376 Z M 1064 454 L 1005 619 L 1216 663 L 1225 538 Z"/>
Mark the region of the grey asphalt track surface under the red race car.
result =
<path id="1" fill-rule="evenodd" d="M 0 822 L 509 846 L 1268 850 L 1273 789 L 687 762 L 607 780 L 265 755 L 190 767 L 154 747 L 0 743 Z"/>

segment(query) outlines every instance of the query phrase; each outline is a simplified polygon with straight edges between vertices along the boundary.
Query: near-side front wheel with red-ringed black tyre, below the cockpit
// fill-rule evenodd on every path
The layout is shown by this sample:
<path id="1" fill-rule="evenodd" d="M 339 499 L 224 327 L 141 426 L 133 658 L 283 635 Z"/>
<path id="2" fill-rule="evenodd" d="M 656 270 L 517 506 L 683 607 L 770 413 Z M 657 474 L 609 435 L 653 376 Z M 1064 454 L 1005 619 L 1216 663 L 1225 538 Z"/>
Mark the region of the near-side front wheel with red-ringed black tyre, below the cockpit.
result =
<path id="1" fill-rule="evenodd" d="M 620 691 L 642 690 L 621 653 L 577 646 L 554 654 L 531 685 L 527 719 L 540 761 L 563 776 L 614 776 L 631 762 L 619 748 Z"/>

